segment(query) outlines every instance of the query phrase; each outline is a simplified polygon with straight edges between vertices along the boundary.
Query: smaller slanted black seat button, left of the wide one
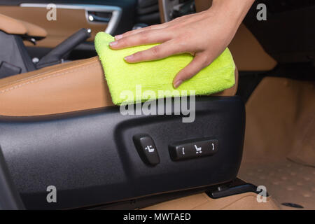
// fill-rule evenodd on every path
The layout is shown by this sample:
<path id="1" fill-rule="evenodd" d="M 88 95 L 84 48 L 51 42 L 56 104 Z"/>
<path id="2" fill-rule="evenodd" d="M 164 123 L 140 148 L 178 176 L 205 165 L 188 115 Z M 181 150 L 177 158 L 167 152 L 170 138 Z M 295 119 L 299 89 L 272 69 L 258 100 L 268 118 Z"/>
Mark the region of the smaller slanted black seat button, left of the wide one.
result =
<path id="1" fill-rule="evenodd" d="M 140 158 L 151 166 L 160 163 L 160 157 L 153 139 L 148 134 L 136 134 L 132 138 L 134 146 L 136 146 Z"/>

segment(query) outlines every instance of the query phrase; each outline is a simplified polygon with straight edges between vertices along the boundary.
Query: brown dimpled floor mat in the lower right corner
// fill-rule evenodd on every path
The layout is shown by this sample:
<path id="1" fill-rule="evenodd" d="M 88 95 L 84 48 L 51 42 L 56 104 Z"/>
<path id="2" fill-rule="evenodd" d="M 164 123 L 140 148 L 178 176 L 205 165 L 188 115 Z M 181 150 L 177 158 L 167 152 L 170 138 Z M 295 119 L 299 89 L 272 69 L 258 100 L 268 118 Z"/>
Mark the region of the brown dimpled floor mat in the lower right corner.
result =
<path id="1" fill-rule="evenodd" d="M 240 179 L 265 186 L 269 195 L 279 203 L 281 209 L 295 209 L 283 203 L 297 204 L 304 209 L 315 209 L 315 169 L 295 162 L 246 162 L 241 165 Z"/>

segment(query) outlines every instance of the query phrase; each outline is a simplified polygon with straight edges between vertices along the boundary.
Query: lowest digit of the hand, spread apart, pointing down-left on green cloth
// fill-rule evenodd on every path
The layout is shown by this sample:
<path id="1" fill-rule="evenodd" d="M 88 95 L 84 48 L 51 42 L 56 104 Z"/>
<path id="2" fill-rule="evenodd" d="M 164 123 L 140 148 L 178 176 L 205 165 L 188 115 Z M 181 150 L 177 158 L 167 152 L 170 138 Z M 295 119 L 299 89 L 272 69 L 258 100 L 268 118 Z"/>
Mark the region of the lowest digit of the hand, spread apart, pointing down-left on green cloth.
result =
<path id="1" fill-rule="evenodd" d="M 208 66 L 210 63 L 207 63 L 207 55 L 202 53 L 197 53 L 193 61 L 191 61 L 185 68 L 181 69 L 179 73 L 175 76 L 173 80 L 174 88 L 179 87 L 184 80 L 188 80 L 197 74 L 204 67 Z"/>

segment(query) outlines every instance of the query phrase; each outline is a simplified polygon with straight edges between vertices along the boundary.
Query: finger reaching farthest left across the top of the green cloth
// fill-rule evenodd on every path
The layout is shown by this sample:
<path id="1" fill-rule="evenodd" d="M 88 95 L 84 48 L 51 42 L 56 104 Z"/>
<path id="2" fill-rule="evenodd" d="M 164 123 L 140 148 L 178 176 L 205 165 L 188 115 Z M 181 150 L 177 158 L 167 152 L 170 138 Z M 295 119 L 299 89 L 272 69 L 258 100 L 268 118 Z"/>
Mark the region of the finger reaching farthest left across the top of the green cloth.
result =
<path id="1" fill-rule="evenodd" d="M 162 31 L 161 31 L 162 30 Z M 109 46 L 113 50 L 119 50 L 122 48 L 130 48 L 137 45 L 146 45 L 150 43 L 162 43 L 168 41 L 170 38 L 169 31 L 165 29 L 153 29 L 149 31 L 143 31 L 138 34 L 121 38 L 118 41 L 109 43 Z"/>

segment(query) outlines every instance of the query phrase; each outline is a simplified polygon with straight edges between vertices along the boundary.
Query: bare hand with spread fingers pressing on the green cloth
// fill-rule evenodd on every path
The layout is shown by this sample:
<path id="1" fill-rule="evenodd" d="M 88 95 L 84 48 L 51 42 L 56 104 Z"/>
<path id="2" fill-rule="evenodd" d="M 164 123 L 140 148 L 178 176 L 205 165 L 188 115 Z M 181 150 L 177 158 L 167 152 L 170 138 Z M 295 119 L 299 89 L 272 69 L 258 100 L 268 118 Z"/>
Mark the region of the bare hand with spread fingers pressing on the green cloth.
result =
<path id="1" fill-rule="evenodd" d="M 125 57 L 129 63 L 152 61 L 170 55 L 190 53 L 194 59 L 173 80 L 179 87 L 221 55 L 229 45 L 253 0 L 214 0 L 202 13 L 186 15 L 171 22 L 128 31 L 115 36 L 109 45 L 118 50 L 136 45 L 161 43 Z"/>

